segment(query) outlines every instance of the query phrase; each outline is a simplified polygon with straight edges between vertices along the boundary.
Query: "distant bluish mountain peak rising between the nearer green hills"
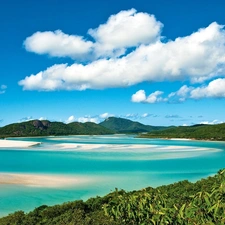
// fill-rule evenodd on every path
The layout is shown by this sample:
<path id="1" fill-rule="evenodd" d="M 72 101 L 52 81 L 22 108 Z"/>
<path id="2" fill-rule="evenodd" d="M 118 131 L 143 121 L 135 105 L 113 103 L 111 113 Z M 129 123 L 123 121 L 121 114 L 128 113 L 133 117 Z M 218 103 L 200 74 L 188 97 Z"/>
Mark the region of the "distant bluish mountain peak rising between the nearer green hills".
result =
<path id="1" fill-rule="evenodd" d="M 116 117 L 109 117 L 105 121 L 101 122 L 100 125 L 113 130 L 116 133 L 143 133 L 167 128 L 144 125 L 139 122 Z"/>

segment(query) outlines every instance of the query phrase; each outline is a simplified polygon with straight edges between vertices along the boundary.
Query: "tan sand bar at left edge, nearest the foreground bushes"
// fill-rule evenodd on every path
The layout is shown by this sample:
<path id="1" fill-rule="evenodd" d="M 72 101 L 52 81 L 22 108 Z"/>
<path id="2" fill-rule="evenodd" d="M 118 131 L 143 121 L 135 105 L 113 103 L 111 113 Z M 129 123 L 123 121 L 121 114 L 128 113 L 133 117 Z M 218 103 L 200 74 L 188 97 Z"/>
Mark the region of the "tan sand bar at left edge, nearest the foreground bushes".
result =
<path id="1" fill-rule="evenodd" d="M 79 186 L 92 182 L 93 178 L 80 176 L 0 173 L 0 185 L 24 185 L 33 187 Z"/>

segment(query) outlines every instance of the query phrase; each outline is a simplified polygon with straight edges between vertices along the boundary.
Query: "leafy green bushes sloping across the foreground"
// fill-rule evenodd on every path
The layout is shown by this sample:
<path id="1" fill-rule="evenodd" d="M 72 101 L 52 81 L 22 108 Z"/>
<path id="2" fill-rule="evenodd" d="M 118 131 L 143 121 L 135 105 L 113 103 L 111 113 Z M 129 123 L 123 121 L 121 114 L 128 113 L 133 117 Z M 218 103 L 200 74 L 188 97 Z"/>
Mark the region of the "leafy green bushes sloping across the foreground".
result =
<path id="1" fill-rule="evenodd" d="M 196 183 L 181 181 L 158 188 L 116 190 L 29 213 L 18 211 L 0 225 L 222 225 L 225 224 L 225 170 Z"/>

